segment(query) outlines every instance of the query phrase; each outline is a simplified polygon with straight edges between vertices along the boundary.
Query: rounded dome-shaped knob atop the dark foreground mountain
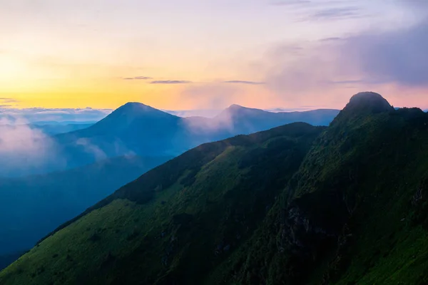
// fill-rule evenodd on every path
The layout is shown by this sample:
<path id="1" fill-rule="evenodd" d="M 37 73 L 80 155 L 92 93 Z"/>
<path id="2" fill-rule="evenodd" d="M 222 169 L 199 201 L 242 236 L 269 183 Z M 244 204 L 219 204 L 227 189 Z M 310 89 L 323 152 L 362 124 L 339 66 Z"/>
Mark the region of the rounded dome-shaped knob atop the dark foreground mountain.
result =
<path id="1" fill-rule="evenodd" d="M 352 96 L 350 103 L 347 103 L 343 110 L 380 113 L 394 110 L 394 108 L 379 93 L 360 92 Z"/>

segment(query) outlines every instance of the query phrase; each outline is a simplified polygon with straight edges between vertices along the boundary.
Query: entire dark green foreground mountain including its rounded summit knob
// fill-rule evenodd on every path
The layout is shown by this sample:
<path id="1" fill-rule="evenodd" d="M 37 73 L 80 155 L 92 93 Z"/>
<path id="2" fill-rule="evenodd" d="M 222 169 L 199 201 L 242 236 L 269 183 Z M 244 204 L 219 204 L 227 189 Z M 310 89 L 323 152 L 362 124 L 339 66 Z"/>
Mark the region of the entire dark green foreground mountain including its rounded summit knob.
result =
<path id="1" fill-rule="evenodd" d="M 427 284 L 428 114 L 385 102 L 359 93 L 327 128 L 185 152 L 63 224 L 0 283 Z"/>

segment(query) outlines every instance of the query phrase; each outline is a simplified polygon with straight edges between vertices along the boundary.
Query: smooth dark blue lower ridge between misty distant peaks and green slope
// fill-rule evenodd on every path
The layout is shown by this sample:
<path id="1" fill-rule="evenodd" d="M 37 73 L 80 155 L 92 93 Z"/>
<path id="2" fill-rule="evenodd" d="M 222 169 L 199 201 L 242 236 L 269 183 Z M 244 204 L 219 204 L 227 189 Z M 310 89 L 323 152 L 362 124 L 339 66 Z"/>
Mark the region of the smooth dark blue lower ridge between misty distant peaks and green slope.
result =
<path id="1" fill-rule="evenodd" d="M 63 172 L 0 179 L 0 255 L 29 249 L 58 225 L 172 157 L 114 157 Z"/>

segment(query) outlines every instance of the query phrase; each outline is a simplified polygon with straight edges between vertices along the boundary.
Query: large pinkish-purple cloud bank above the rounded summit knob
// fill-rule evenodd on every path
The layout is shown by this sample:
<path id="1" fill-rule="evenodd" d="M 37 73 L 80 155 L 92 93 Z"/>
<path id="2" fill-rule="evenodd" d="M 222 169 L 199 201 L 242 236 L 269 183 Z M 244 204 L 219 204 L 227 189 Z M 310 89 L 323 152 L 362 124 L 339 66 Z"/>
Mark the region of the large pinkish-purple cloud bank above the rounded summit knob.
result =
<path id="1" fill-rule="evenodd" d="M 265 73 L 267 90 L 290 105 L 311 100 L 325 100 L 325 105 L 329 105 L 342 100 L 340 90 L 347 92 L 342 88 L 394 93 L 407 88 L 405 95 L 400 96 L 414 96 L 421 104 L 427 104 L 427 99 L 409 94 L 412 93 L 409 90 L 428 88 L 428 9 L 424 9 L 428 1 L 412 1 L 416 10 L 415 5 L 420 5 L 419 10 L 424 14 L 419 14 L 419 19 L 415 16 L 413 24 L 407 22 L 388 29 L 366 29 L 342 38 L 277 46 L 266 53 L 264 71 L 259 68 Z M 352 11 L 341 10 L 338 14 Z M 320 95 L 320 90 L 328 95 Z"/>

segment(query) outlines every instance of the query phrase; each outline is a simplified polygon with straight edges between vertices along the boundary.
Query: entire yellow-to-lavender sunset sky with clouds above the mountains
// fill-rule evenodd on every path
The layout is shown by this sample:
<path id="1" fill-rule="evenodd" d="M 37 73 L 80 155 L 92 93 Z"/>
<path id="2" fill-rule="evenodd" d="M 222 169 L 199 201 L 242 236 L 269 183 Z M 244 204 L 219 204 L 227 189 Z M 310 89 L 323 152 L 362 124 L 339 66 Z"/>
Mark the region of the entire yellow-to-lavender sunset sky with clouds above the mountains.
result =
<path id="1" fill-rule="evenodd" d="M 425 0 L 0 0 L 0 108 L 428 108 Z"/>

